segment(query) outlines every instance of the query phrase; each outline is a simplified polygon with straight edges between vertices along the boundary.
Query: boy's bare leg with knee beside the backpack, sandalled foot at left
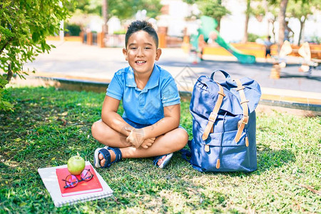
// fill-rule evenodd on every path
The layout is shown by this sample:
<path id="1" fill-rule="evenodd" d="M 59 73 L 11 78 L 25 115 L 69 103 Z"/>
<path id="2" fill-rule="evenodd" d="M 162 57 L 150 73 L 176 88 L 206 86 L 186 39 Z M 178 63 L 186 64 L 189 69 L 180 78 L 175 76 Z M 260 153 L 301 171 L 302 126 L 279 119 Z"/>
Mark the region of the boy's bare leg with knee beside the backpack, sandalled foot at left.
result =
<path id="1" fill-rule="evenodd" d="M 120 148 L 123 158 L 148 158 L 154 156 L 161 156 L 168 153 L 179 151 L 188 142 L 188 133 L 183 128 L 175 128 L 173 131 L 169 131 L 162 136 L 158 136 L 153 145 L 149 148 L 135 148 L 132 146 Z M 116 158 L 113 151 L 111 153 L 111 161 Z M 99 155 L 101 165 L 105 164 L 103 155 Z"/>

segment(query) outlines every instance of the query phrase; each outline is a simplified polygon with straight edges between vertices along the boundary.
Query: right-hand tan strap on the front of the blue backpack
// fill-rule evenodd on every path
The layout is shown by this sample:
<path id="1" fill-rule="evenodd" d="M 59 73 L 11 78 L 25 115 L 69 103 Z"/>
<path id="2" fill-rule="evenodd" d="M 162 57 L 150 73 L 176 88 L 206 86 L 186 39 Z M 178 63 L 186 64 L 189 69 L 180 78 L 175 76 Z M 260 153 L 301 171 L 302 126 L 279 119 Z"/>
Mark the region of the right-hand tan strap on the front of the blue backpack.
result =
<path id="1" fill-rule="evenodd" d="M 238 85 L 238 88 L 236 88 L 236 91 L 238 91 L 240 93 L 240 104 L 243 108 L 243 118 L 238 122 L 238 132 L 236 133 L 235 136 L 235 142 L 238 143 L 238 141 L 240 141 L 240 136 L 242 134 L 242 131 L 245 127 L 246 124 L 248 124 L 248 100 L 245 97 L 245 93 L 244 93 L 244 86 L 242 85 L 240 79 L 235 79 L 233 80 L 236 82 L 236 84 Z"/>

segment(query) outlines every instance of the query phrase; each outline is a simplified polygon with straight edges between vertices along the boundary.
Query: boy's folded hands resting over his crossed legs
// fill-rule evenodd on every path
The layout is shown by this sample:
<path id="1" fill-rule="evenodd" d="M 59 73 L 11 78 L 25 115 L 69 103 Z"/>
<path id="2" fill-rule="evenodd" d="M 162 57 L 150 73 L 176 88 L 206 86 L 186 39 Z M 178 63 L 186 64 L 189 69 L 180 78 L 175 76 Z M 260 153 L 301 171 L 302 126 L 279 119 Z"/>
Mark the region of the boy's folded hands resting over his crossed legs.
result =
<path id="1" fill-rule="evenodd" d="M 126 141 L 128 143 L 131 143 L 133 147 L 142 147 L 142 148 L 149 148 L 153 145 L 156 138 L 144 138 L 145 135 L 143 133 L 143 129 L 141 128 L 134 128 L 131 130 L 131 133 L 129 133 L 129 136 L 126 138 Z"/>

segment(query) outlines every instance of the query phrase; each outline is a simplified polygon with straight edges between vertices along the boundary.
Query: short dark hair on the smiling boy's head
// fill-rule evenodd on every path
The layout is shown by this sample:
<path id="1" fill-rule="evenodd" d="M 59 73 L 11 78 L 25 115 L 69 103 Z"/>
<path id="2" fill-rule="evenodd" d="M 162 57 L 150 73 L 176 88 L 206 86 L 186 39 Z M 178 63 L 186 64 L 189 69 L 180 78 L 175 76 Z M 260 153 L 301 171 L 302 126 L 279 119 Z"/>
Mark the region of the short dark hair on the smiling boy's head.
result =
<path id="1" fill-rule="evenodd" d="M 153 25 L 151 23 L 149 23 L 148 21 L 140 21 L 140 20 L 133 21 L 128 26 L 128 30 L 127 30 L 126 36 L 125 36 L 126 49 L 127 49 L 129 37 L 131 37 L 131 35 L 136 33 L 137 31 L 146 31 L 146 33 L 148 33 L 150 36 L 152 36 L 155 41 L 155 44 L 156 44 L 156 49 L 158 49 L 158 36 L 157 36 L 155 29 L 153 28 Z"/>

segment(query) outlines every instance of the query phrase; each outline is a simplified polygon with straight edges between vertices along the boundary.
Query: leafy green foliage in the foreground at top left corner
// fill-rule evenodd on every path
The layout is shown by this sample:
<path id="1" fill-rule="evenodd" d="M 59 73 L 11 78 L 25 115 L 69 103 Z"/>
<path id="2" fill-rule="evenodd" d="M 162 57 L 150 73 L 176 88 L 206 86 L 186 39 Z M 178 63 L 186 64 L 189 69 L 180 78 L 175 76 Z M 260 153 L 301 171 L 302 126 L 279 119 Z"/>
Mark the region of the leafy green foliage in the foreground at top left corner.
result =
<path id="1" fill-rule="evenodd" d="M 60 31 L 59 22 L 68 17 L 68 0 L 4 0 L 0 1 L 0 109 L 10 109 L 3 100 L 4 87 L 15 74 L 20 78 L 26 61 L 34 61 L 39 53 L 54 46 L 46 44 L 46 36 Z"/>

